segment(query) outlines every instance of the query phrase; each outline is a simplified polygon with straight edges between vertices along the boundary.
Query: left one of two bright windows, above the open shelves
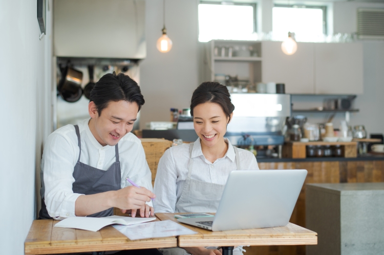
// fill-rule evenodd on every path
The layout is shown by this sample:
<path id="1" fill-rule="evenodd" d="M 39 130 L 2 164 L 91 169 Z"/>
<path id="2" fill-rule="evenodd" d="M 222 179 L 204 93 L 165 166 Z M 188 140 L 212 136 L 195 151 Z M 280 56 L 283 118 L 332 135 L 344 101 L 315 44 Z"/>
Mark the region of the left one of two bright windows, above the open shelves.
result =
<path id="1" fill-rule="evenodd" d="M 199 41 L 250 40 L 255 31 L 256 4 L 200 2 Z"/>

